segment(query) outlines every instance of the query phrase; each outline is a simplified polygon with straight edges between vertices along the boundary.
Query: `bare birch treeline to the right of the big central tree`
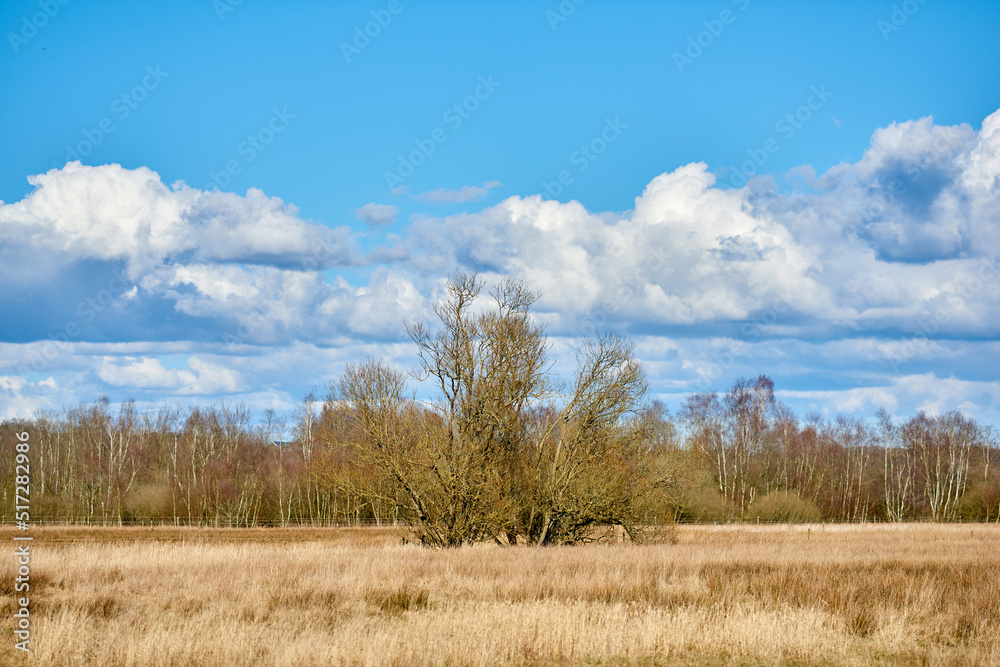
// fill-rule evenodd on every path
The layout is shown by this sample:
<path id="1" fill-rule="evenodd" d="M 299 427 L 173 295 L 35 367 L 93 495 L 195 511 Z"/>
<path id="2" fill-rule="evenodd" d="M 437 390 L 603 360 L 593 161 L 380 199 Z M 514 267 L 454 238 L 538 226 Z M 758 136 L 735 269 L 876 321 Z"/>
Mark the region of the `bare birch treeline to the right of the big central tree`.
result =
<path id="1" fill-rule="evenodd" d="M 675 451 L 698 471 L 683 478 L 681 518 L 1000 520 L 996 434 L 958 412 L 801 423 L 761 376 L 689 397 L 679 421 Z"/>

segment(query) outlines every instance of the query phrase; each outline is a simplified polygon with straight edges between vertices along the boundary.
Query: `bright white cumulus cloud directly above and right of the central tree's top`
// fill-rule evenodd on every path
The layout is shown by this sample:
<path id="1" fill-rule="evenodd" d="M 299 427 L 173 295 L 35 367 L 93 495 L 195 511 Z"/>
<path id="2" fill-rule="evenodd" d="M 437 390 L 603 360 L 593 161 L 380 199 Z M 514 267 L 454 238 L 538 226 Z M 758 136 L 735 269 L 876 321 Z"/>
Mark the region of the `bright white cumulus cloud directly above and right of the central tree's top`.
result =
<path id="1" fill-rule="evenodd" d="M 415 243 L 439 270 L 521 275 L 542 291 L 543 307 L 576 315 L 692 324 L 743 319 L 779 298 L 837 312 L 817 280 L 815 249 L 750 211 L 745 191 L 714 182 L 704 164 L 681 167 L 654 179 L 626 216 L 510 197 L 479 214 L 419 221 Z"/>

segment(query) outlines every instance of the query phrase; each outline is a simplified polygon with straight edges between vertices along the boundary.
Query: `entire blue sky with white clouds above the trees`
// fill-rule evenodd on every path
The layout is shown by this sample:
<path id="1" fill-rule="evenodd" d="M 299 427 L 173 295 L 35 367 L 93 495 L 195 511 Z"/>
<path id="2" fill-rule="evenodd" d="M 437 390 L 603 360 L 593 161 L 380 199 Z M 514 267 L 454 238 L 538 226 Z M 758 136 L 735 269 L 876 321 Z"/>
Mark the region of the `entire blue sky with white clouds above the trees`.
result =
<path id="1" fill-rule="evenodd" d="M 633 335 L 673 407 L 764 372 L 802 415 L 1000 423 L 998 29 L 919 0 L 5 2 L 0 418 L 289 410 L 410 363 L 400 323 L 471 269 L 543 290 L 559 368 Z"/>

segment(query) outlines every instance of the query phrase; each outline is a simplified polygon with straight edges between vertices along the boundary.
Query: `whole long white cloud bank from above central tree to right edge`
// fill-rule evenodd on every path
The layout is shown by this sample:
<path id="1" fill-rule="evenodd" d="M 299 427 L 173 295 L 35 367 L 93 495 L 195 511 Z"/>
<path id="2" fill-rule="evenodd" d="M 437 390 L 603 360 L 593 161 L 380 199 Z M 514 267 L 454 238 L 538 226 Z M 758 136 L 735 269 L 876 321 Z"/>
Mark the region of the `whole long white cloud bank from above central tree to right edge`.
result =
<path id="1" fill-rule="evenodd" d="M 998 125 L 1000 112 L 978 133 L 929 118 L 894 124 L 808 194 L 766 179 L 722 189 L 690 164 L 653 179 L 623 215 L 510 197 L 418 220 L 411 261 L 426 272 L 521 275 L 564 331 L 581 317 L 743 321 L 780 304 L 815 334 L 996 333 Z"/>

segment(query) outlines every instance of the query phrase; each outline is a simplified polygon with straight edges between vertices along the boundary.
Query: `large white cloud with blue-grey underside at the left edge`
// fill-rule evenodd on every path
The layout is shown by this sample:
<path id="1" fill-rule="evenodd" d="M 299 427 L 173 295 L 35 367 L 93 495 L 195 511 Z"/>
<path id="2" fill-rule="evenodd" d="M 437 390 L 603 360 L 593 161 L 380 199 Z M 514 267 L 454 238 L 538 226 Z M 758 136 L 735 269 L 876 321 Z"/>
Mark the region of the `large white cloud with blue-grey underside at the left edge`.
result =
<path id="1" fill-rule="evenodd" d="M 303 220 L 257 189 L 167 187 L 147 168 L 74 162 L 29 182 L 24 199 L 0 203 L 7 340 L 204 341 L 240 329 L 274 344 L 348 326 L 316 310 L 336 289 L 320 270 L 362 263 L 346 227 Z M 263 323 L 247 329 L 248 316 Z"/>

